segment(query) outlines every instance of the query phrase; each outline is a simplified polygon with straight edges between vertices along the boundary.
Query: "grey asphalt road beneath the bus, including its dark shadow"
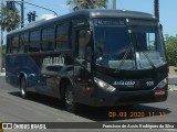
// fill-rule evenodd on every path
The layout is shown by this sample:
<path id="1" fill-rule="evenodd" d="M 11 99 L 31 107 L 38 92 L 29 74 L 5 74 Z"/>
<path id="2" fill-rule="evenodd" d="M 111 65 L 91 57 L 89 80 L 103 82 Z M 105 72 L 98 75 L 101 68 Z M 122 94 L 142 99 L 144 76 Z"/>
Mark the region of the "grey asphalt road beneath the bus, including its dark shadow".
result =
<path id="1" fill-rule="evenodd" d="M 169 86 L 170 88 L 168 99 L 165 102 L 157 103 L 146 103 L 137 105 L 133 108 L 92 108 L 86 106 L 81 106 L 80 112 L 72 114 L 66 112 L 63 107 L 60 105 L 58 99 L 41 95 L 32 95 L 28 100 L 20 98 L 19 89 L 11 87 L 6 84 L 4 75 L 0 77 L 0 122 L 100 122 L 106 121 L 110 123 L 118 122 L 176 122 L 177 107 L 176 99 L 177 92 L 171 91 L 177 86 L 177 77 L 169 76 Z M 145 117 L 108 117 L 110 112 L 118 113 L 131 113 L 131 112 L 144 112 Z M 60 123 L 59 123 L 60 124 Z M 69 125 L 70 128 L 70 125 Z M 136 130 L 136 129 L 108 129 L 108 130 L 79 130 L 79 129 L 65 129 L 65 130 L 25 130 L 27 132 L 116 132 L 116 131 L 148 131 L 148 130 Z M 176 129 L 160 129 L 160 130 L 150 130 L 150 131 L 177 131 Z M 4 132 L 24 132 L 24 130 L 12 130 Z"/>

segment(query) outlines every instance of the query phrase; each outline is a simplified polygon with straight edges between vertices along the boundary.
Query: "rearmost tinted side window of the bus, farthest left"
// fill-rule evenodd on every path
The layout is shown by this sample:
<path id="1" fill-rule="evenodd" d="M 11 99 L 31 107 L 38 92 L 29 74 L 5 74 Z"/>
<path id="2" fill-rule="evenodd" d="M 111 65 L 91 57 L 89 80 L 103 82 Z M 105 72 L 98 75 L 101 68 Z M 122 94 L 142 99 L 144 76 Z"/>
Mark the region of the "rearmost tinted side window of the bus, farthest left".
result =
<path id="1" fill-rule="evenodd" d="M 12 46 L 11 46 L 11 53 L 18 53 L 19 52 L 19 35 L 12 37 Z"/>

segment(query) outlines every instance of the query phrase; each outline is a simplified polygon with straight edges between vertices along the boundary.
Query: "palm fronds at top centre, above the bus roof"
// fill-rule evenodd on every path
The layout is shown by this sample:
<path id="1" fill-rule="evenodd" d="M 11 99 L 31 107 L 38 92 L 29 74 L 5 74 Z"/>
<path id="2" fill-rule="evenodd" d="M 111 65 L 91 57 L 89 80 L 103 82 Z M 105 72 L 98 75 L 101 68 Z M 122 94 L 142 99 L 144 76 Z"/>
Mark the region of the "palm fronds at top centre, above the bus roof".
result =
<path id="1" fill-rule="evenodd" d="M 107 8 L 108 0 L 69 0 L 67 6 L 73 7 L 73 11 L 81 9 Z"/>

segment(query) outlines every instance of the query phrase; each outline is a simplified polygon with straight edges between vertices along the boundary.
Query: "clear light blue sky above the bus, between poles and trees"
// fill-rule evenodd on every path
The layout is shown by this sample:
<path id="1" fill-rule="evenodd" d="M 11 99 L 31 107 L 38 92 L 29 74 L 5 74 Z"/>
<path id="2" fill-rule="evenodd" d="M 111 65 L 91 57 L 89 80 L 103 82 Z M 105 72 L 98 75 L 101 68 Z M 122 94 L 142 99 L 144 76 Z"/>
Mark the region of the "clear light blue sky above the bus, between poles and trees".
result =
<path id="1" fill-rule="evenodd" d="M 72 12 L 72 8 L 66 6 L 67 0 L 24 0 L 37 6 L 53 10 L 58 15 Z M 159 0 L 159 19 L 164 28 L 164 34 L 177 35 L 177 0 Z M 17 4 L 20 9 L 20 6 Z M 24 3 L 24 18 L 29 11 L 37 11 L 38 19 L 42 15 L 53 14 L 53 12 L 43 10 Z M 112 8 L 112 0 L 108 0 L 108 9 Z M 154 0 L 116 0 L 116 9 L 142 11 L 154 14 Z M 27 23 L 27 22 L 25 22 Z"/>

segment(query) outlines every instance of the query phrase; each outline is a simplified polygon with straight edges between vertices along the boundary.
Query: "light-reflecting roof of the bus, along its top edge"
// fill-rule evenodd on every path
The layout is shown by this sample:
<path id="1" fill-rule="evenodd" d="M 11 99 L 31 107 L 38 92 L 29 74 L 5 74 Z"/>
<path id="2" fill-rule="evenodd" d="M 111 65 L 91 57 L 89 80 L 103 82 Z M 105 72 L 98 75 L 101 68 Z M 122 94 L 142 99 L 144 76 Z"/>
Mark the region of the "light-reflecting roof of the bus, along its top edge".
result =
<path id="1" fill-rule="evenodd" d="M 38 28 L 41 25 L 46 25 L 50 23 L 55 23 L 58 21 L 63 21 L 67 19 L 73 19 L 76 16 L 88 16 L 88 18 L 134 18 L 134 19 L 146 19 L 146 20 L 156 20 L 153 14 L 145 13 L 145 12 L 138 12 L 138 11 L 126 11 L 126 10 L 110 10 L 110 9 L 104 9 L 104 10 L 96 10 L 96 9 L 85 9 L 85 10 L 80 10 L 75 11 L 69 14 L 64 14 L 54 19 L 45 19 L 45 20 L 39 20 L 34 21 L 30 24 L 28 24 L 25 28 L 19 29 L 19 30 L 13 30 L 9 32 L 9 34 L 13 34 L 17 32 L 22 32 L 29 29 Z"/>

